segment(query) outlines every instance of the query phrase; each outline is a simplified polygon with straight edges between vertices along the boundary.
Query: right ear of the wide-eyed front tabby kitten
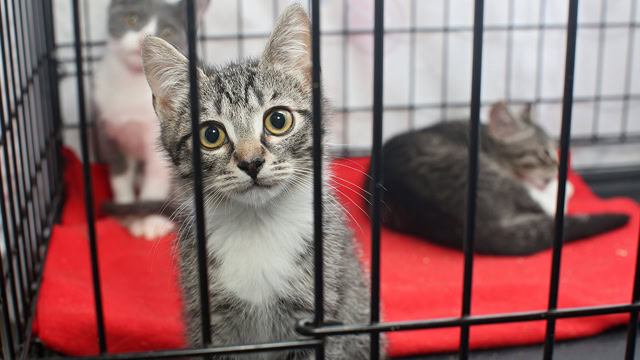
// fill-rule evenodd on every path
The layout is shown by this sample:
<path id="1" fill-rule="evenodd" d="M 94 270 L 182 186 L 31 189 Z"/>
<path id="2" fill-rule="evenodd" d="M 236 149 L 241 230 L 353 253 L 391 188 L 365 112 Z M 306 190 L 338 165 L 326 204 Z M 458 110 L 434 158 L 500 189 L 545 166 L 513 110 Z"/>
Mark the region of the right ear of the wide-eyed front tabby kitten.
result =
<path id="1" fill-rule="evenodd" d="M 281 67 L 311 83 L 311 22 L 300 5 L 278 18 L 260 63 Z"/>

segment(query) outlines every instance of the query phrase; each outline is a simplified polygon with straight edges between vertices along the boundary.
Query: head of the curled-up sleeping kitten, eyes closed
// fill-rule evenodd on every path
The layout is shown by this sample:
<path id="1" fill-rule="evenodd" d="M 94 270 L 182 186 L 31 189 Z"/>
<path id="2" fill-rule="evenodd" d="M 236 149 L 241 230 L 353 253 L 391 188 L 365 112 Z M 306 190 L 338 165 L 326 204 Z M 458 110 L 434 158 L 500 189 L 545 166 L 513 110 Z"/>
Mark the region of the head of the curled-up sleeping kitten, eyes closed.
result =
<path id="1" fill-rule="evenodd" d="M 557 177 L 556 142 L 532 121 L 529 109 L 515 117 L 503 104 L 496 104 L 491 111 L 489 128 L 493 138 L 502 145 L 498 156 L 516 177 L 538 188 Z"/>

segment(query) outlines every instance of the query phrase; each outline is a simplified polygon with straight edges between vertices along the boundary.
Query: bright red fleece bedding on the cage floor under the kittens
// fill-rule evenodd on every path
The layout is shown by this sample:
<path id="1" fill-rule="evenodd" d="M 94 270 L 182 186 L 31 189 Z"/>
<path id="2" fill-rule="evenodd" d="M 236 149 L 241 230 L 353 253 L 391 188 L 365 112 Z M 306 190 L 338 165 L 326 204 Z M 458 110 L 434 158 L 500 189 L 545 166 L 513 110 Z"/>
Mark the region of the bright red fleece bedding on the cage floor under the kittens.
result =
<path id="1" fill-rule="evenodd" d="M 84 217 L 81 165 L 70 152 L 66 160 L 66 204 L 62 223 L 49 245 L 34 331 L 49 347 L 70 355 L 96 354 L 95 311 L 87 227 Z M 341 200 L 358 225 L 353 225 L 370 254 L 370 224 L 353 185 L 363 184 L 368 159 L 336 162 Z M 109 197 L 106 170 L 93 166 L 98 204 Z M 576 174 L 570 213 L 615 211 L 631 215 L 621 229 L 564 247 L 559 307 L 625 303 L 631 299 L 638 242 L 640 208 L 635 202 L 597 198 Z M 180 348 L 184 344 L 180 295 L 176 284 L 172 237 L 156 242 L 132 238 L 116 221 L 97 212 L 99 266 L 109 352 Z M 382 231 L 382 305 L 386 321 L 458 316 L 462 294 L 462 253 L 424 240 Z M 366 265 L 368 267 L 368 265 Z M 547 306 L 551 251 L 526 257 L 476 256 L 472 314 L 543 310 Z M 557 339 L 594 335 L 624 324 L 628 315 L 559 320 Z M 476 326 L 473 349 L 543 341 L 543 321 Z M 458 347 L 459 330 L 435 329 L 389 334 L 394 356 Z"/>

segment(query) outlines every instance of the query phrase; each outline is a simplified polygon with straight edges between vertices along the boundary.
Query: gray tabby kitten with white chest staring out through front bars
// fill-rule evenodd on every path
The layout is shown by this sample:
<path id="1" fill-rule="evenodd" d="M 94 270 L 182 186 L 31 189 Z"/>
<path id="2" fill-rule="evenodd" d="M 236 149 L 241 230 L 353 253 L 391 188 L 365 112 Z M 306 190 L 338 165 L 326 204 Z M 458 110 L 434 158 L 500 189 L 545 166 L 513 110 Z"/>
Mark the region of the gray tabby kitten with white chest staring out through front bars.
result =
<path id="1" fill-rule="evenodd" d="M 186 336 L 199 346 L 192 146 L 202 148 L 212 342 L 216 346 L 302 338 L 314 309 L 310 24 L 290 6 L 260 59 L 198 68 L 200 144 L 192 144 L 188 60 L 167 42 L 143 42 L 144 72 L 182 204 L 177 243 Z M 325 102 L 326 104 L 326 102 Z M 326 106 L 325 106 L 326 107 Z M 326 109 L 325 109 L 326 110 Z M 326 113 L 326 111 L 325 111 Z M 329 178 L 325 170 L 325 179 Z M 324 206 L 335 208 L 330 187 Z M 185 210 L 186 209 L 186 210 Z M 368 322 L 368 290 L 339 211 L 324 218 L 327 319 Z M 327 340 L 328 359 L 367 359 L 368 336 Z M 309 359 L 310 350 L 225 359 Z"/>

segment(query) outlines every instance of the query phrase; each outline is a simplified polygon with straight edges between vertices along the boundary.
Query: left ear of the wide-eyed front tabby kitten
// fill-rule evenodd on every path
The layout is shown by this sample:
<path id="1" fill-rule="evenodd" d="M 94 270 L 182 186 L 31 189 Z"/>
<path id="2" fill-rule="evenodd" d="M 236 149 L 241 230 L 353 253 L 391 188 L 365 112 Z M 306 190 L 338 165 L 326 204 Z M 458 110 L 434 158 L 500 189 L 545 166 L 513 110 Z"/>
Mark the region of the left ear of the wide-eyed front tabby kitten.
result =
<path id="1" fill-rule="evenodd" d="M 155 98 L 156 111 L 173 111 L 189 96 L 189 60 L 168 42 L 147 36 L 142 41 L 142 68 Z M 198 68 L 198 76 L 204 76 Z"/>

